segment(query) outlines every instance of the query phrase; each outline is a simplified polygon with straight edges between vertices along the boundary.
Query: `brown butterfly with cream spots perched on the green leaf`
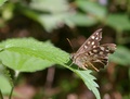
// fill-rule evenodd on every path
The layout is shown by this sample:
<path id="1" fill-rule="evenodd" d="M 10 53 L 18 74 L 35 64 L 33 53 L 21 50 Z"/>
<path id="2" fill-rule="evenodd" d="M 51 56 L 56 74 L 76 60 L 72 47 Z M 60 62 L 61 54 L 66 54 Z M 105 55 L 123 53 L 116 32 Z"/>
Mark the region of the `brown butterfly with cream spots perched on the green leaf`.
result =
<path id="1" fill-rule="evenodd" d="M 99 72 L 100 69 L 107 65 L 108 54 L 115 52 L 116 45 L 100 45 L 101 39 L 102 28 L 94 32 L 78 49 L 78 51 L 72 54 L 73 63 L 77 64 L 80 69 L 90 69 L 96 72 Z"/>

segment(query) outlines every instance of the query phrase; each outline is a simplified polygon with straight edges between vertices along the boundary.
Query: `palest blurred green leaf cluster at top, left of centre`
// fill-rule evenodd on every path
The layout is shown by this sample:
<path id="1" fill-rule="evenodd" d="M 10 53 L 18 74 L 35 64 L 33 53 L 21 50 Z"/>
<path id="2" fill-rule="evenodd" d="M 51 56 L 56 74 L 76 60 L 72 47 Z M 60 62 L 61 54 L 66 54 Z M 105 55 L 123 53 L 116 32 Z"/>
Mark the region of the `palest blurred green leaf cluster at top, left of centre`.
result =
<path id="1" fill-rule="evenodd" d="M 47 12 L 47 13 L 37 13 L 37 17 L 34 20 L 38 21 L 48 32 L 56 29 L 61 24 L 65 23 L 68 26 L 72 26 L 68 17 L 70 15 L 69 5 L 66 0 L 32 0 L 30 3 L 32 10 Z M 29 17 L 32 17 L 28 13 L 25 13 Z"/>

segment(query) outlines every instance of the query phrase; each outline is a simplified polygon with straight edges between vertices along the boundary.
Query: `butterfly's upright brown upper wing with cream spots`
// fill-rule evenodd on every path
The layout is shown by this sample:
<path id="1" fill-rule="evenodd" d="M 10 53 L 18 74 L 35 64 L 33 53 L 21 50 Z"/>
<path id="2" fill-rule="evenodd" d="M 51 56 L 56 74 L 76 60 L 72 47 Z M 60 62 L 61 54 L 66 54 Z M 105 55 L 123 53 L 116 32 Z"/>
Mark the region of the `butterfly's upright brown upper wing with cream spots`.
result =
<path id="1" fill-rule="evenodd" d="M 80 54 L 92 48 L 96 48 L 100 45 L 100 40 L 102 39 L 102 28 L 94 32 L 84 44 L 78 49 L 76 53 Z"/>

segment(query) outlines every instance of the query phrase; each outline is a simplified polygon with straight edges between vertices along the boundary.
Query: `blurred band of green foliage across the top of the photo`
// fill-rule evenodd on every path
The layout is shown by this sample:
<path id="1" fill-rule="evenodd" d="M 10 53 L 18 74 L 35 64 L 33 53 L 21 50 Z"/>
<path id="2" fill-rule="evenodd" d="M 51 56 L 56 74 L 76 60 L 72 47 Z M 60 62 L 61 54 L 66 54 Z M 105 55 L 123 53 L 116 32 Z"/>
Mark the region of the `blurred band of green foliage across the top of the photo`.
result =
<path id="1" fill-rule="evenodd" d="M 116 3 L 121 4 L 120 2 Z M 73 8 L 73 4 L 76 9 Z M 15 14 L 14 11 L 18 10 L 22 14 L 40 23 L 48 32 L 57 29 L 64 24 L 69 27 L 105 24 L 116 30 L 130 29 L 127 13 L 108 13 L 107 5 L 91 0 L 74 0 L 72 2 L 67 0 L 31 0 L 29 5 L 24 1 L 17 1 L 16 3 L 9 2 L 1 10 L 3 18 L 11 20 Z"/>

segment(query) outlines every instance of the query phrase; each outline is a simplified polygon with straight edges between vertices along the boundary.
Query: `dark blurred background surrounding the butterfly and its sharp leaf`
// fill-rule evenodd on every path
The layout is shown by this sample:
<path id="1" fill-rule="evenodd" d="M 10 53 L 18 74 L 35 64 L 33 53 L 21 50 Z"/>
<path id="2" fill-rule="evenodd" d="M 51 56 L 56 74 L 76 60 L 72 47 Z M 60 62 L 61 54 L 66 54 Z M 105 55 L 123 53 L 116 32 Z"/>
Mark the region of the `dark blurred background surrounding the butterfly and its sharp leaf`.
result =
<path id="1" fill-rule="evenodd" d="M 34 37 L 72 53 L 66 38 L 76 51 L 99 28 L 101 44 L 117 45 L 108 66 L 93 73 L 101 97 L 130 99 L 129 0 L 9 0 L 0 8 L 0 40 Z M 57 65 L 23 73 L 15 91 L 26 99 L 95 99 L 77 75 Z"/>

